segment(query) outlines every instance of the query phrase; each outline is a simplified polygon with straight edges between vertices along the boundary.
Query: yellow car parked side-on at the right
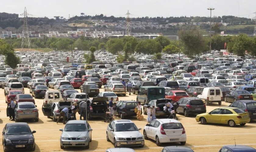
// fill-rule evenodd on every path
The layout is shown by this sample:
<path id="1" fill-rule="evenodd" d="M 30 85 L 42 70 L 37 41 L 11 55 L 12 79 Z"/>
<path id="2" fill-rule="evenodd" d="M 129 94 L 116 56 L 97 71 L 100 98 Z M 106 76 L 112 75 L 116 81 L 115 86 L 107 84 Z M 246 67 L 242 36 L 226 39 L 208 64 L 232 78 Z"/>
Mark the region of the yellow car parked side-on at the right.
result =
<path id="1" fill-rule="evenodd" d="M 236 124 L 244 126 L 250 122 L 248 112 L 236 107 L 221 107 L 212 110 L 211 112 L 202 113 L 196 116 L 196 121 L 201 124 L 206 123 L 221 123 L 228 124 L 230 127 L 235 127 Z"/>

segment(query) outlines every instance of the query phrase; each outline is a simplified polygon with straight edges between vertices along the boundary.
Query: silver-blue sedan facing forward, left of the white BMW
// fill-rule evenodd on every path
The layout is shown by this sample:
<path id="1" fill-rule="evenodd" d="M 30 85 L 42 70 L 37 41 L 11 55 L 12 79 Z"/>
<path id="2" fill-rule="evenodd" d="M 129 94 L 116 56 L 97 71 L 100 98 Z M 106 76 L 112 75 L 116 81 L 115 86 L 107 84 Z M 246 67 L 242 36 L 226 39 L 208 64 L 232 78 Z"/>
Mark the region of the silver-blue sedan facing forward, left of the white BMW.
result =
<path id="1" fill-rule="evenodd" d="M 89 123 L 85 120 L 69 120 L 64 130 L 60 129 L 60 148 L 65 147 L 85 147 L 89 149 L 92 140 L 92 129 Z"/>

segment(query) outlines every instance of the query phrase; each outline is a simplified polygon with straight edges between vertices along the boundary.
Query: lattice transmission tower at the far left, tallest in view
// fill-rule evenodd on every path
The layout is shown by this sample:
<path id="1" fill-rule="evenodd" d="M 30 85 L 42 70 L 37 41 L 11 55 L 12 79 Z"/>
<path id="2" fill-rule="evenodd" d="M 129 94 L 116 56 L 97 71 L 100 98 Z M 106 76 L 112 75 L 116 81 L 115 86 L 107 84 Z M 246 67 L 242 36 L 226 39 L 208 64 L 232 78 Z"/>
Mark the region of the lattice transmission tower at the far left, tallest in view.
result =
<path id="1" fill-rule="evenodd" d="M 24 16 L 24 24 L 23 24 L 23 30 L 22 30 L 22 41 L 21 41 L 21 52 L 23 52 L 23 48 L 25 44 L 28 44 L 28 49 L 30 50 L 30 41 L 29 41 L 29 35 L 28 35 L 28 25 L 27 25 L 27 16 L 30 15 L 27 13 L 27 9 L 25 7 L 24 13 L 20 14 Z"/>

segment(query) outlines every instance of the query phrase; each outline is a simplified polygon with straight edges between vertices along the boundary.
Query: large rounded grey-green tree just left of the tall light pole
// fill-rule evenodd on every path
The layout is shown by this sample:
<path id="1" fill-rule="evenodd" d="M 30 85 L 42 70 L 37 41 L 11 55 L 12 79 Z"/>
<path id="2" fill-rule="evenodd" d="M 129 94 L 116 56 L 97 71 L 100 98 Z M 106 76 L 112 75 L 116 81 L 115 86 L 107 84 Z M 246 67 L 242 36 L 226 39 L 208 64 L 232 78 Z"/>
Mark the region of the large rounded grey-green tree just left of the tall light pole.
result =
<path id="1" fill-rule="evenodd" d="M 197 27 L 190 29 L 183 28 L 178 32 L 178 35 L 184 44 L 183 53 L 189 57 L 200 54 L 207 46 L 202 32 Z"/>

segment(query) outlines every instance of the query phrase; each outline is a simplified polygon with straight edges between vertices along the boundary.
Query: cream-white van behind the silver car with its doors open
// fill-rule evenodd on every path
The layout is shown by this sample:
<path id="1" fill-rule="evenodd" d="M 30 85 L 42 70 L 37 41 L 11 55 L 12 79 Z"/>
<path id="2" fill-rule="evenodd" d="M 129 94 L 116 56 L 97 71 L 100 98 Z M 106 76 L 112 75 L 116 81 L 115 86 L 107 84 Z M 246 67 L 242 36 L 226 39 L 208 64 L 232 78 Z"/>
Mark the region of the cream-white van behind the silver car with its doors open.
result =
<path id="1" fill-rule="evenodd" d="M 64 99 L 63 99 L 60 91 L 49 90 L 49 91 L 45 92 L 44 104 L 53 103 L 53 102 L 59 102 L 59 101 L 63 101 L 63 100 Z"/>

